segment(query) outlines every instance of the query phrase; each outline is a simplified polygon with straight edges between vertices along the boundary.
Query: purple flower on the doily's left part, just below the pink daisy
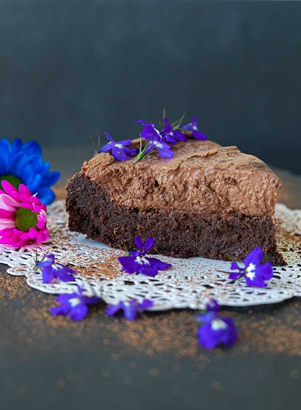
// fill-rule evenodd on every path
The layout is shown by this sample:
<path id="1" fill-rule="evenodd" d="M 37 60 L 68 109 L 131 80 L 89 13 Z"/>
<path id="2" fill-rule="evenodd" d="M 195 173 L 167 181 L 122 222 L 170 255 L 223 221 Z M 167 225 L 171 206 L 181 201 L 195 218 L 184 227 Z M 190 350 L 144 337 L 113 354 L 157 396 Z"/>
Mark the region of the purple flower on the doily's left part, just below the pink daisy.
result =
<path id="1" fill-rule="evenodd" d="M 45 258 L 48 258 L 48 260 L 44 260 Z M 36 265 L 42 269 L 42 278 L 45 284 L 56 283 L 58 279 L 63 282 L 74 281 L 74 277 L 70 274 L 75 274 L 75 270 L 56 262 L 53 253 L 45 255 L 41 262 L 36 262 Z"/>

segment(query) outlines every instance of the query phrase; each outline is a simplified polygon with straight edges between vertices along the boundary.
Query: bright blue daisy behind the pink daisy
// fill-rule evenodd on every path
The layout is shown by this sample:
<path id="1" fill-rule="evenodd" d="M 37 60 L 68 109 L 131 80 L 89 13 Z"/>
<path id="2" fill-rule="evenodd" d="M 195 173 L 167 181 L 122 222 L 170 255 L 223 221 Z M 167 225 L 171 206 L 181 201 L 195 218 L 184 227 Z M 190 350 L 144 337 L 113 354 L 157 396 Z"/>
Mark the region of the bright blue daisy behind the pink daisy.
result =
<path id="1" fill-rule="evenodd" d="M 59 172 L 49 172 L 49 163 L 42 158 L 41 146 L 35 141 L 23 144 L 16 139 L 11 145 L 3 138 L 0 140 L 0 183 L 9 181 L 18 188 L 25 184 L 45 205 L 51 204 L 55 194 L 50 189 L 60 178 Z"/>

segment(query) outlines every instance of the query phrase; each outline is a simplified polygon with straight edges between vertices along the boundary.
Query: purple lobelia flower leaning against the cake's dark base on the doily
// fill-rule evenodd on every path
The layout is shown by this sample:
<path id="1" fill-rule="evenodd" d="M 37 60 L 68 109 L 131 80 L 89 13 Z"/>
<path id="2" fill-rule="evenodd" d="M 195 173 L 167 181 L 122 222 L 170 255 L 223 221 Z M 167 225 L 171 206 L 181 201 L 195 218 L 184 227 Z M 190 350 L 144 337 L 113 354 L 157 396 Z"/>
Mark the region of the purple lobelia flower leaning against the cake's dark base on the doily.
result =
<path id="1" fill-rule="evenodd" d="M 145 253 L 154 246 L 154 239 L 147 238 L 144 244 L 140 236 L 136 236 L 134 242 L 138 250 L 129 250 L 130 256 L 119 256 L 118 260 L 127 274 L 142 274 L 145 276 L 156 276 L 158 270 L 165 270 L 171 266 L 170 263 L 162 262 L 156 257 L 146 257 Z"/>

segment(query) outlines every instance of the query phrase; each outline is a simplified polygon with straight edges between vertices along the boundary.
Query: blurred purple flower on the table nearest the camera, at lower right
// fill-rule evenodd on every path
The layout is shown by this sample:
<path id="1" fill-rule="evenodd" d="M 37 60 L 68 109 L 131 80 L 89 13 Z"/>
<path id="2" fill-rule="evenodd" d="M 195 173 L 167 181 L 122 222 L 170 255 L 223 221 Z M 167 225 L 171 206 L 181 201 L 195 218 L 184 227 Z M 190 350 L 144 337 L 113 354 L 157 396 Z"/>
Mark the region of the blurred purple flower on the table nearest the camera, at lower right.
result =
<path id="1" fill-rule="evenodd" d="M 202 326 L 198 329 L 199 344 L 205 349 L 214 349 L 218 345 L 232 346 L 238 333 L 231 318 L 221 318 L 220 306 L 215 299 L 206 305 L 207 313 L 198 316 Z"/>

